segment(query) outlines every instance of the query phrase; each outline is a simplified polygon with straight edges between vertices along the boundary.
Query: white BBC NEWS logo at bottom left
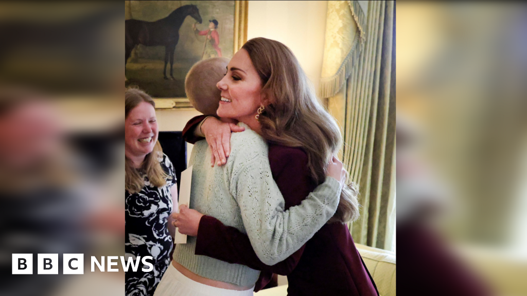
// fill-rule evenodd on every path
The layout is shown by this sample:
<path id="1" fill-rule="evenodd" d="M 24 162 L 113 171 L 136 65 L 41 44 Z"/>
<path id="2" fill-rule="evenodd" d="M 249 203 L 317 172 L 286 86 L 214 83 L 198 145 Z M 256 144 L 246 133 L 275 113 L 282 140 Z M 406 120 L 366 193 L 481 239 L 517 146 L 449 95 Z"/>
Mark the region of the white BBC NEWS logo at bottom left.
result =
<path id="1" fill-rule="evenodd" d="M 150 272 L 154 268 L 153 264 L 147 261 L 152 260 L 152 256 L 138 256 L 135 261 L 132 257 L 125 261 L 124 256 L 107 256 L 108 265 L 104 265 L 104 256 L 101 256 L 100 261 L 91 256 L 91 271 L 95 271 L 95 265 L 102 272 L 105 271 L 105 266 L 109 272 L 119 271 L 118 268 L 113 268 L 119 264 L 116 262 L 119 257 L 124 271 L 128 271 L 130 267 L 137 271 L 139 262 L 143 263 L 143 272 Z M 62 259 L 63 274 L 84 274 L 84 254 L 62 254 Z M 33 254 L 13 254 L 12 267 L 12 274 L 33 274 Z M 58 254 L 37 254 L 37 274 L 58 274 Z"/>

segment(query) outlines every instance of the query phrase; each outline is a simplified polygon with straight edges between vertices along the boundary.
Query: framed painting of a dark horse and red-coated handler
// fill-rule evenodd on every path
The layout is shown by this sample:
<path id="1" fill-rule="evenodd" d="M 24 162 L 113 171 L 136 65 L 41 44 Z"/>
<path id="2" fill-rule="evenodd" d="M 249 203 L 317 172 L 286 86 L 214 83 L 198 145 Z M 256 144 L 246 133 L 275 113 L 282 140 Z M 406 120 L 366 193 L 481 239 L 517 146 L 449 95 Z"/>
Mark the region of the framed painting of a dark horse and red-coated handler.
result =
<path id="1" fill-rule="evenodd" d="M 185 76 L 200 60 L 231 58 L 247 41 L 248 1 L 125 1 L 125 86 L 156 108 L 192 108 Z"/>

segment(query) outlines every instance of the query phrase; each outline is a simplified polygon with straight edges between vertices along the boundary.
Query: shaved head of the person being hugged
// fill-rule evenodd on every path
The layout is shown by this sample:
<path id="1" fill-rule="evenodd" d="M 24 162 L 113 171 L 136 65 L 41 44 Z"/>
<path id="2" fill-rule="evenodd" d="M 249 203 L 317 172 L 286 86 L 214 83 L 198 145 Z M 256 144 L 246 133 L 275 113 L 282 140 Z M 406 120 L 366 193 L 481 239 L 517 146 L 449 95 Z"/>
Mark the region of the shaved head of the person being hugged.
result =
<path id="1" fill-rule="evenodd" d="M 221 92 L 216 84 L 227 72 L 229 59 L 213 57 L 200 61 L 190 68 L 185 77 L 185 92 L 196 110 L 205 115 L 216 115 Z"/>

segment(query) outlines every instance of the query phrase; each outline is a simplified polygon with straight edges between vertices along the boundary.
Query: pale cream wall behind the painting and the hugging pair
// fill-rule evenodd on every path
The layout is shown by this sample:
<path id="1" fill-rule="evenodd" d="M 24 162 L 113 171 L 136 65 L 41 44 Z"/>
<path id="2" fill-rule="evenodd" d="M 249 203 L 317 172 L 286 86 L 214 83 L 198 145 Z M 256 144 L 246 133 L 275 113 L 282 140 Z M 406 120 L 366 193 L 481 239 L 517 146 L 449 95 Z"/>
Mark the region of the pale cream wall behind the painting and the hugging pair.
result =
<path id="1" fill-rule="evenodd" d="M 247 38 L 266 37 L 291 48 L 318 92 L 327 1 L 249 1 Z M 196 110 L 158 110 L 160 131 L 181 131 Z M 189 146 L 190 155 L 191 145 Z"/>

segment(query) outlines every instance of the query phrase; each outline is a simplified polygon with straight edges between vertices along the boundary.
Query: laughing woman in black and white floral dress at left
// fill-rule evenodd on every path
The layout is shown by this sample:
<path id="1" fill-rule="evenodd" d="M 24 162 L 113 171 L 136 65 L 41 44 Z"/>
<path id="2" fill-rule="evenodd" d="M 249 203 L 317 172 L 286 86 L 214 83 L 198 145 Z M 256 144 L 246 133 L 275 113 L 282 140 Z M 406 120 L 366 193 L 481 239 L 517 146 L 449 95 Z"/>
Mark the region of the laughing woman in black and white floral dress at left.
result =
<path id="1" fill-rule="evenodd" d="M 126 261 L 153 258 L 151 272 L 126 272 L 125 293 L 153 295 L 170 264 L 175 230 L 169 216 L 177 209 L 178 189 L 174 167 L 158 142 L 154 100 L 138 88 L 128 88 L 124 98 Z"/>

